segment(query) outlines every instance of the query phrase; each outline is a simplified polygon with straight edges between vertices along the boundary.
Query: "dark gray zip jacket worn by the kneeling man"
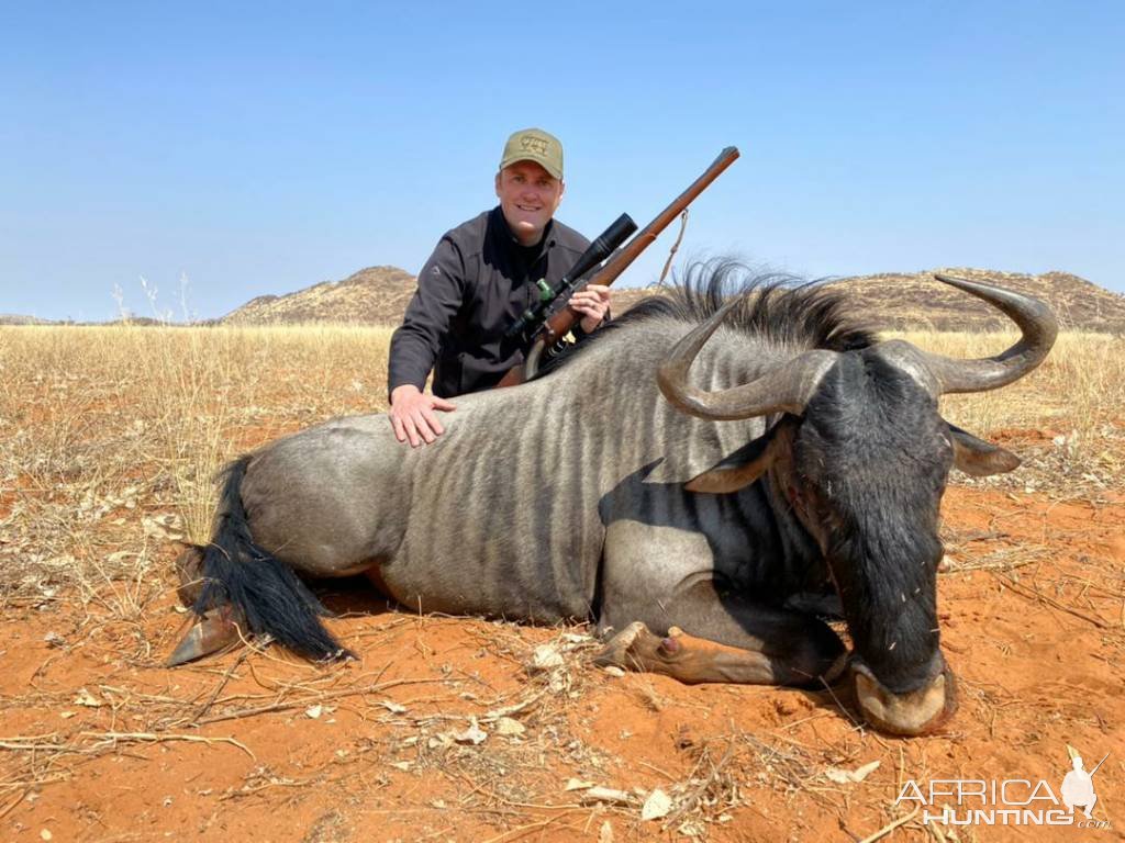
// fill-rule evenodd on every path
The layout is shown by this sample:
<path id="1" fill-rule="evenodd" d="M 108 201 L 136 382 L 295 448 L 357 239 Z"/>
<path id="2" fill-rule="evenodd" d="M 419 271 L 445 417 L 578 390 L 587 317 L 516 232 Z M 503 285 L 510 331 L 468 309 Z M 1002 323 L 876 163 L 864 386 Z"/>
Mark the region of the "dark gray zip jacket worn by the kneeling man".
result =
<path id="1" fill-rule="evenodd" d="M 522 246 L 500 206 L 447 232 L 390 338 L 388 392 L 404 383 L 422 389 L 431 369 L 442 398 L 496 386 L 523 362 L 525 344 L 504 332 L 534 300 L 534 282 L 558 283 L 588 245 L 551 220 L 538 245 Z"/>

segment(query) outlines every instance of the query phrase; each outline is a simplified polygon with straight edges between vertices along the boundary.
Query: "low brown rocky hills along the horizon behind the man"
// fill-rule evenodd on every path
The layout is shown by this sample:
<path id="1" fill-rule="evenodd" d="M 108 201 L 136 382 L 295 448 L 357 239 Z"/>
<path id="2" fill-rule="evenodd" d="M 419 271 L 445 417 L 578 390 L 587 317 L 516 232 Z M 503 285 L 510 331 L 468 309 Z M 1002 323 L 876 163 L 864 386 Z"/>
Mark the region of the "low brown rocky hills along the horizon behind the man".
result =
<path id="1" fill-rule="evenodd" d="M 1046 272 L 1026 275 L 994 270 L 942 268 L 915 273 L 882 273 L 834 279 L 828 283 L 854 299 L 856 308 L 880 328 L 984 330 L 1010 323 L 983 302 L 933 279 L 943 272 L 992 281 L 1051 303 L 1064 328 L 1125 333 L 1125 296 L 1104 290 L 1077 275 Z M 304 321 L 353 321 L 396 325 L 414 293 L 414 277 L 395 266 L 371 266 L 343 281 L 325 281 L 286 296 L 262 296 L 222 321 L 271 325 Z M 624 312 L 659 289 L 614 289 L 614 310 Z"/>

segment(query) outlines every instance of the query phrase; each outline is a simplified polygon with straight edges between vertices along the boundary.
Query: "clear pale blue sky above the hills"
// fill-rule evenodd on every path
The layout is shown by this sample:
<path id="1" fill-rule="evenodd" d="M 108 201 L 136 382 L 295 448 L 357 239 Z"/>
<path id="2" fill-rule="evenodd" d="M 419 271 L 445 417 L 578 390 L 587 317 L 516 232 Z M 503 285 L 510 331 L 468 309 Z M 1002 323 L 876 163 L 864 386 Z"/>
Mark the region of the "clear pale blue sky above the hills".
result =
<path id="1" fill-rule="evenodd" d="M 820 277 L 1058 269 L 1125 291 L 1125 3 L 0 7 L 0 312 L 179 315 L 416 272 L 559 135 L 559 218 Z M 622 283 L 654 280 L 668 232 Z"/>

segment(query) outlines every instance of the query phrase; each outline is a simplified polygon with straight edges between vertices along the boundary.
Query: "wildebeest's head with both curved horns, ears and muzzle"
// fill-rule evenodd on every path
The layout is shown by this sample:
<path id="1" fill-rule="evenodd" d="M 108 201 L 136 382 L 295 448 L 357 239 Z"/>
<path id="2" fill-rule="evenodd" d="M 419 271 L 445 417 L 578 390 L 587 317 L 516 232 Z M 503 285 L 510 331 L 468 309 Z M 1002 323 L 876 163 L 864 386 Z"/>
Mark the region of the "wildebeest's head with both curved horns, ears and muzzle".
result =
<path id="1" fill-rule="evenodd" d="M 768 474 L 824 553 L 855 644 L 864 715 L 884 731 L 911 735 L 938 727 L 956 705 L 936 609 L 938 508 L 950 469 L 981 475 L 1019 462 L 948 425 L 938 398 L 1022 378 L 1046 356 L 1056 333 L 1036 299 L 938 279 L 1007 314 L 1023 332 L 1020 342 L 970 361 L 903 341 L 812 350 L 750 383 L 699 390 L 687 383 L 687 370 L 734 300 L 685 336 L 659 372 L 664 395 L 685 413 L 714 420 L 784 414 L 764 437 L 687 488 L 728 492 Z"/>

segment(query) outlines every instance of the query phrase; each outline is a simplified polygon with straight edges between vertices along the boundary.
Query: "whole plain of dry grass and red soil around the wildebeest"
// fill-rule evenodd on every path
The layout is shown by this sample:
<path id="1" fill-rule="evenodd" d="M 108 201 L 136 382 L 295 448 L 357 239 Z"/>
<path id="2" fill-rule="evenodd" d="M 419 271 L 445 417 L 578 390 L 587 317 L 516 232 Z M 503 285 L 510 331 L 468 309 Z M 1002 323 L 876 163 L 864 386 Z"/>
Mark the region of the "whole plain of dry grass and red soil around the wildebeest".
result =
<path id="1" fill-rule="evenodd" d="M 222 464 L 386 408 L 375 327 L 0 328 L 0 839 L 1099 841 L 1125 836 L 1125 338 L 1063 333 L 945 416 L 1024 460 L 955 473 L 940 734 L 857 722 L 847 685 L 686 687 L 590 663 L 576 625 L 387 607 L 320 587 L 360 656 L 258 642 L 174 670 L 182 542 Z M 910 334 L 953 356 L 1008 334 Z M 388 490 L 393 493 L 393 490 Z M 529 501 L 533 505 L 533 501 Z M 906 782 L 1046 780 L 1066 746 L 1102 827 L 924 824 Z"/>

